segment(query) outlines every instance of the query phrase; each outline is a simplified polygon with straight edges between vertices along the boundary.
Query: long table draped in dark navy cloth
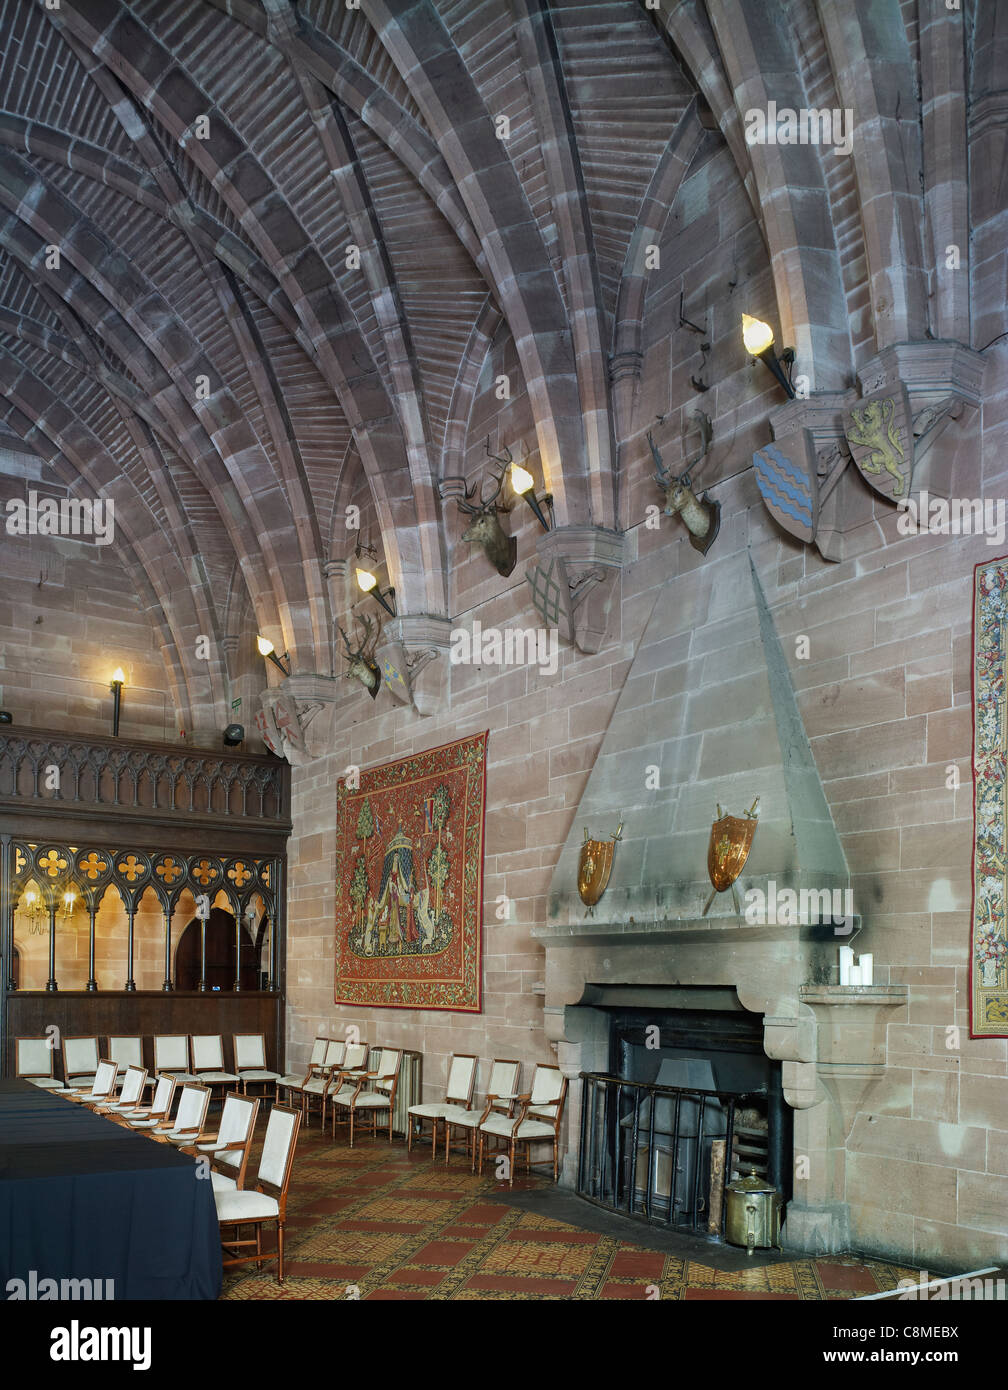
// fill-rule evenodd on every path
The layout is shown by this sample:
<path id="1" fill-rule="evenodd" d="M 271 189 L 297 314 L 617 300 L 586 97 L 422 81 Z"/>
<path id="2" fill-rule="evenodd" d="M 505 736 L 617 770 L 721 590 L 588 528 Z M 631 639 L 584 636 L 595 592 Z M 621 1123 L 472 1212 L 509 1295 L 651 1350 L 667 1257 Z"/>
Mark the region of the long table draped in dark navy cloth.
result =
<path id="1" fill-rule="evenodd" d="M 11 1279 L 111 1279 L 115 1298 L 217 1298 L 213 1184 L 170 1144 L 29 1081 L 0 1081 L 0 1298 Z"/>

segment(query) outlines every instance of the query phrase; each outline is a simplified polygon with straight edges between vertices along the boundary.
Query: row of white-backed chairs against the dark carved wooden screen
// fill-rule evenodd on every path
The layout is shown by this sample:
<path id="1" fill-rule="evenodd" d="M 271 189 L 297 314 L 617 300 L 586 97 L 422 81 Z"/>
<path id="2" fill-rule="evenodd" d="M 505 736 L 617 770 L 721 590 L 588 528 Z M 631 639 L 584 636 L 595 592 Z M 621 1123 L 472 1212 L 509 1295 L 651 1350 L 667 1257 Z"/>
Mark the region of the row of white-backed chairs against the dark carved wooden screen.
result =
<path id="1" fill-rule="evenodd" d="M 86 1087 L 95 1080 L 103 1061 L 115 1062 L 125 1074 L 127 1068 L 143 1066 L 142 1037 L 110 1037 L 104 1056 L 97 1037 L 65 1037 L 61 1044 L 64 1080 L 56 1077 L 56 1049 L 49 1038 L 17 1038 L 17 1074 L 33 1086 L 49 1091 Z M 266 1036 L 263 1033 L 232 1034 L 235 1070 L 225 1070 L 224 1036 L 221 1033 L 156 1033 L 154 1072 L 174 1076 L 178 1081 L 200 1081 L 204 1086 L 234 1087 L 247 1095 L 249 1084 L 274 1087 L 279 1072 L 266 1065 Z M 150 1086 L 152 1081 L 149 1080 Z"/>

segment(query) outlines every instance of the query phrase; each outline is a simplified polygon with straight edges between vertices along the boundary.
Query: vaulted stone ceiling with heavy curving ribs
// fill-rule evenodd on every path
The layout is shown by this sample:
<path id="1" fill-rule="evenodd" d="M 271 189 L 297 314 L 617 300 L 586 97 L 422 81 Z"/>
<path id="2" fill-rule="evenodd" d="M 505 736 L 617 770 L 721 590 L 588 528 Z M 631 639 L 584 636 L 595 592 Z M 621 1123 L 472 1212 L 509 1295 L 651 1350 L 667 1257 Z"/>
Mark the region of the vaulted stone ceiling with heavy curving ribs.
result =
<path id="1" fill-rule="evenodd" d="M 438 478 L 501 332 L 558 523 L 619 527 L 610 363 L 641 352 L 644 249 L 712 147 L 813 391 L 893 342 L 969 342 L 968 282 L 934 300 L 923 231 L 968 242 L 943 14 L 0 0 L 0 427 L 114 498 L 186 726 L 220 727 L 249 605 L 295 670 L 332 670 L 325 570 L 361 477 L 400 612 L 450 617 Z M 980 93 L 994 29 L 970 11 Z M 747 145 L 770 99 L 852 107 L 870 138 Z"/>

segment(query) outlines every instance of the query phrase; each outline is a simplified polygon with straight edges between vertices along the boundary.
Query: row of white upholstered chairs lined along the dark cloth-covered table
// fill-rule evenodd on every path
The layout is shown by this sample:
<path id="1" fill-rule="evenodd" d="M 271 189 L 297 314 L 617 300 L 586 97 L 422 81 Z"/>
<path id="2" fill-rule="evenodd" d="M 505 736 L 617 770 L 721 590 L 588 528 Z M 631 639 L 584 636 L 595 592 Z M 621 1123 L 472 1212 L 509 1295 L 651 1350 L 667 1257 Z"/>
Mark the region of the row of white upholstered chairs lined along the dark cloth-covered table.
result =
<path id="1" fill-rule="evenodd" d="M 224 1097 L 217 1129 L 207 1129 L 207 1109 L 211 1090 L 200 1081 L 179 1081 L 170 1074 L 154 1077 L 154 1094 L 149 1105 L 139 1099 L 147 1083 L 143 1066 L 127 1066 L 115 1099 L 117 1062 L 99 1062 L 90 1087 L 63 1087 L 56 1094 L 86 1105 L 118 1125 L 135 1129 L 161 1144 L 174 1144 L 181 1152 L 204 1159 L 210 1165 L 217 1219 L 221 1225 L 221 1244 L 231 1258 L 225 1266 L 252 1261 L 261 1268 L 273 1255 L 263 1251 L 263 1227 L 277 1230 L 277 1280 L 284 1283 L 284 1223 L 286 1194 L 291 1183 L 293 1151 L 300 1127 L 300 1112 L 274 1105 L 266 1125 L 259 1172 L 252 1186 L 246 1184 L 246 1168 L 260 1097 Z M 175 1106 L 175 1101 L 178 1104 Z M 172 1119 L 172 1108 L 175 1116 Z M 254 1234 L 242 1238 L 242 1227 L 252 1226 Z M 234 1227 L 234 1233 L 231 1233 Z M 243 1250 L 254 1245 L 254 1252 Z"/>

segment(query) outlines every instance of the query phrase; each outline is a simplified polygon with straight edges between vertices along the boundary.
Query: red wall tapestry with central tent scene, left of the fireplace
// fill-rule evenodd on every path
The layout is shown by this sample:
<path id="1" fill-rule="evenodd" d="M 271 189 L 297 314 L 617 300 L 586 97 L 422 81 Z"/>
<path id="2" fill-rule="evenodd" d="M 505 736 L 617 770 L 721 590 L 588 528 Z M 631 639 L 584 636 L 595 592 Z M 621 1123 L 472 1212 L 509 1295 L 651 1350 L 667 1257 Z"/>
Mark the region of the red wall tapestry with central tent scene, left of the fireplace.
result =
<path id="1" fill-rule="evenodd" d="M 336 794 L 336 1004 L 481 1009 L 487 734 Z"/>

